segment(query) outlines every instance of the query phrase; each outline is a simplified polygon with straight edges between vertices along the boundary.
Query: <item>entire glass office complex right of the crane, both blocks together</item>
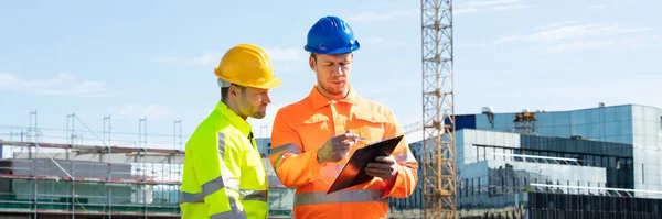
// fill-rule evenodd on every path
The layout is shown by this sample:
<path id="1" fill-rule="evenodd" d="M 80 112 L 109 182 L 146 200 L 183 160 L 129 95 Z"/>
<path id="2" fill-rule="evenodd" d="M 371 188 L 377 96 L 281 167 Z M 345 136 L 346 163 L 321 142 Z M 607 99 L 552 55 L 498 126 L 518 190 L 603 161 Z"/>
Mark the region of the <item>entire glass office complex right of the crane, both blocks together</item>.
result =
<path id="1" fill-rule="evenodd" d="M 662 218 L 662 109 L 457 116 L 462 218 Z"/>

